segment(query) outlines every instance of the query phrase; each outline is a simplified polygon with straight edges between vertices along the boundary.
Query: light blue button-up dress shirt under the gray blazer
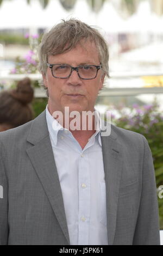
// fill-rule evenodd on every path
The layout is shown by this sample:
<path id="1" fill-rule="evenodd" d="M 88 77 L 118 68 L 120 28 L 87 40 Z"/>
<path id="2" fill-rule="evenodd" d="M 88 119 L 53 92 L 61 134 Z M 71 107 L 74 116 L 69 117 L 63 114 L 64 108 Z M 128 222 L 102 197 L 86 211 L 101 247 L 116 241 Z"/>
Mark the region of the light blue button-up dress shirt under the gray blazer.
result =
<path id="1" fill-rule="evenodd" d="M 71 245 L 108 245 L 101 119 L 95 112 L 99 130 L 82 149 L 71 131 L 58 125 L 46 107 Z"/>

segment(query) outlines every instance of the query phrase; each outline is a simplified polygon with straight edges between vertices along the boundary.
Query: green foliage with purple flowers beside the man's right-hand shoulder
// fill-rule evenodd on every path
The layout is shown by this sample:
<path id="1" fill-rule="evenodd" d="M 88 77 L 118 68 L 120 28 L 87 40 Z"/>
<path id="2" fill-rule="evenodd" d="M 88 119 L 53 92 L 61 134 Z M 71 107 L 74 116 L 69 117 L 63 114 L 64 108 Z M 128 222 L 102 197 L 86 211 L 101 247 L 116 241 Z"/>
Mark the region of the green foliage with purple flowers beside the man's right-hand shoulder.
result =
<path id="1" fill-rule="evenodd" d="M 112 115 L 112 123 L 139 132 L 147 138 L 154 161 L 156 186 L 159 188 L 163 185 L 163 114 L 159 111 L 159 106 L 154 102 L 153 105 L 142 107 L 138 105 L 134 105 L 133 108 L 120 107 L 116 109 L 116 114 L 120 118 L 116 119 Z M 160 228 L 163 229 L 163 198 L 158 200 Z"/>

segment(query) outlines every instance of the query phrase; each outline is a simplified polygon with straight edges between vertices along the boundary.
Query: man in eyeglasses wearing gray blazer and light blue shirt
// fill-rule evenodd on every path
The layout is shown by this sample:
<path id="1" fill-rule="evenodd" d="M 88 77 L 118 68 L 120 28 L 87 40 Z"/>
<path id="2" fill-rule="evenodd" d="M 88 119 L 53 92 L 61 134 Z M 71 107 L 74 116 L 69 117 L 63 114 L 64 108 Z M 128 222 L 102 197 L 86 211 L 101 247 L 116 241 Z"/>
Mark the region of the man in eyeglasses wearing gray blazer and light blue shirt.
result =
<path id="1" fill-rule="evenodd" d="M 1 244 L 159 245 L 147 140 L 112 125 L 106 136 L 110 124 L 95 109 L 108 76 L 104 39 L 63 21 L 43 37 L 39 56 L 47 108 L 0 134 Z M 85 112 L 94 114 L 84 120 Z"/>

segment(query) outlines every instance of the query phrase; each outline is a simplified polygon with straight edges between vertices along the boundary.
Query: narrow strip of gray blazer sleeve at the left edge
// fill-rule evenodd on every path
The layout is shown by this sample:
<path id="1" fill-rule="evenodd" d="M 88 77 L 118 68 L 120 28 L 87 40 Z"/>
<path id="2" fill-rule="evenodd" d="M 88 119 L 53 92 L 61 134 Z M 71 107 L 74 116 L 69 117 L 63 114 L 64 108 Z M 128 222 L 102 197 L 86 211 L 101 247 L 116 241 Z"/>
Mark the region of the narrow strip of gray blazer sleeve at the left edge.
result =
<path id="1" fill-rule="evenodd" d="M 0 142 L 0 245 L 8 244 L 8 181 L 5 174 L 4 151 Z"/>

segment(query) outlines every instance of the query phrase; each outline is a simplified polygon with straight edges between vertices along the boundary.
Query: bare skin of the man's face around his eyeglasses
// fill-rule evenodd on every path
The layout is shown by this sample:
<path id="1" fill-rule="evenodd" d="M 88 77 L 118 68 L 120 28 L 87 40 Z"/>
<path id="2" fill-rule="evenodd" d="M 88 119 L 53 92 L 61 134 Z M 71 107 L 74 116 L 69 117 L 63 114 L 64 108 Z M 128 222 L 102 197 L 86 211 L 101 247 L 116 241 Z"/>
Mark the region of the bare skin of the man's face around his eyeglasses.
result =
<path id="1" fill-rule="evenodd" d="M 99 65 L 99 57 L 95 43 L 87 41 L 84 47 L 78 44 L 71 51 L 49 56 L 49 64 Z M 52 71 L 47 68 L 47 74 L 43 76 L 45 86 L 48 88 L 48 108 L 51 114 L 54 111 L 64 113 L 65 107 L 69 111 L 93 111 L 99 89 L 103 86 L 104 74 L 99 70 L 97 77 L 92 80 L 82 80 L 74 70 L 69 78 L 60 79 L 52 76 Z M 82 96 L 71 96 L 80 94 Z"/>

